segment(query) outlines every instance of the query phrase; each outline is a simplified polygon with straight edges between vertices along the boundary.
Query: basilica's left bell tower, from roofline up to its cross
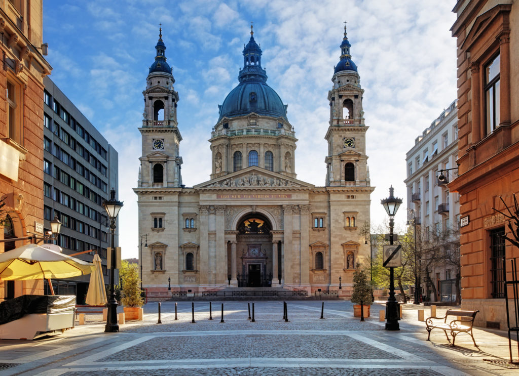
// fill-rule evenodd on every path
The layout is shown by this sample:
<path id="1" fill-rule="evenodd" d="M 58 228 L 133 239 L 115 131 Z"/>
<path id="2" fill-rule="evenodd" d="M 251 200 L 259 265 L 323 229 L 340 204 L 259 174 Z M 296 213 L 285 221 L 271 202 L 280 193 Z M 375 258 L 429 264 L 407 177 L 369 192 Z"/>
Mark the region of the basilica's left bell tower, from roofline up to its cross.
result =
<path id="1" fill-rule="evenodd" d="M 142 156 L 139 158 L 139 182 L 141 187 L 180 187 L 182 185 L 179 155 L 180 135 L 176 120 L 176 104 L 179 93 L 173 89 L 175 79 L 165 56 L 162 28 L 155 61 L 149 67 L 144 95 L 142 127 Z"/>

